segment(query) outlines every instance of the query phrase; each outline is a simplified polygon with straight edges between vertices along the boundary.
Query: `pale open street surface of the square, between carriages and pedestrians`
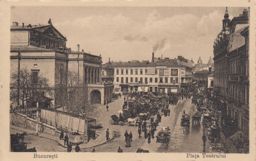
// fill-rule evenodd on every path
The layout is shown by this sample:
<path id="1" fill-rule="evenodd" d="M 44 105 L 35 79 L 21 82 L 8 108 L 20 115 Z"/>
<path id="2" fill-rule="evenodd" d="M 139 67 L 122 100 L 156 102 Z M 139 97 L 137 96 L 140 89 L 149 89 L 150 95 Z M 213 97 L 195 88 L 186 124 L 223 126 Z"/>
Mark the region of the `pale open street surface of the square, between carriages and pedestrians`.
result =
<path id="1" fill-rule="evenodd" d="M 111 119 L 110 116 L 113 114 L 118 115 L 117 111 L 122 109 L 123 103 L 124 96 L 108 104 L 109 111 L 106 110 L 106 105 L 100 105 L 100 116 L 99 119 L 97 119 L 97 125 L 101 125 L 103 128 L 96 130 L 96 134 L 99 135 L 97 139 L 106 139 L 105 134 L 107 128 L 109 128 L 110 135 L 112 135 L 113 131 L 120 130 L 121 136 L 114 138 L 112 141 L 109 141 L 106 144 L 99 146 L 95 145 L 92 148 L 81 149 L 82 152 L 91 152 L 93 148 L 95 148 L 96 152 L 117 152 L 119 146 L 124 152 L 136 152 L 138 148 L 159 153 L 203 152 L 202 135 L 204 128 L 202 127 L 202 123 L 193 124 L 192 121 L 190 121 L 189 128 L 180 126 L 180 119 L 182 118 L 183 111 L 185 111 L 186 114 L 189 114 L 190 118 L 192 118 L 193 114 L 196 112 L 196 107 L 194 104 L 191 104 L 191 99 L 179 100 L 177 105 L 169 105 L 171 110 L 170 116 L 162 116 L 162 121 L 159 123 L 159 126 L 155 132 L 155 138 L 151 139 L 150 144 L 148 144 L 147 139 L 144 137 L 139 139 L 138 127 L 109 124 L 109 119 Z M 171 135 L 169 143 L 156 142 L 156 135 L 161 127 L 170 128 Z M 133 135 L 133 141 L 130 148 L 125 148 L 125 130 L 127 130 L 129 133 L 132 132 Z M 11 128 L 10 132 L 11 134 L 16 134 L 20 131 Z M 29 130 L 26 132 L 29 133 Z M 205 134 L 207 134 L 207 129 L 205 129 Z M 45 139 L 44 137 L 36 136 L 34 134 L 26 135 L 24 141 L 28 143 L 28 148 L 35 147 L 37 151 L 67 151 L 67 149 L 63 148 L 63 146 L 60 146 L 58 142 Z M 44 142 L 44 144 L 42 144 L 42 142 Z M 225 150 L 223 145 L 220 143 L 216 144 L 207 142 L 205 152 L 227 152 L 227 150 Z"/>

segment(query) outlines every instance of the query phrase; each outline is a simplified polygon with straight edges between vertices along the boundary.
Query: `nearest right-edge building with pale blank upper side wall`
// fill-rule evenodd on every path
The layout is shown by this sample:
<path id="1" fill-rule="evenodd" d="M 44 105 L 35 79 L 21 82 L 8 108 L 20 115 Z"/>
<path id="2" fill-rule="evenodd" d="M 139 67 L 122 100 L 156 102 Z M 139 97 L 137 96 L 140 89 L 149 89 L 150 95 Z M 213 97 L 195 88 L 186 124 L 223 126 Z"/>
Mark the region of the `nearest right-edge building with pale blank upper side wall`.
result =
<path id="1" fill-rule="evenodd" d="M 237 128 L 243 129 L 247 133 L 248 120 L 244 119 L 242 114 L 243 107 L 248 109 L 249 104 L 249 54 L 248 49 L 246 49 L 246 41 L 248 45 L 248 40 L 246 40 L 248 29 L 249 15 L 248 10 L 244 9 L 243 14 L 239 15 L 239 17 L 234 17 L 230 22 L 230 38 L 227 47 L 229 65 L 227 111 L 231 118 L 234 119 Z"/>

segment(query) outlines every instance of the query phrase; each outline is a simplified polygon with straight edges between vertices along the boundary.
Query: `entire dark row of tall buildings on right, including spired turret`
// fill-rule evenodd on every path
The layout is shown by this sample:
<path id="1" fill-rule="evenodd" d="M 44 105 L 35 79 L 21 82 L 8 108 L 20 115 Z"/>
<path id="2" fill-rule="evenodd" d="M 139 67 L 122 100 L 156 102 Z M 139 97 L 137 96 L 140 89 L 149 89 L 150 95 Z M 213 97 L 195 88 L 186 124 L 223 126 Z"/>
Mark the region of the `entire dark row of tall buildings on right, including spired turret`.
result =
<path id="1" fill-rule="evenodd" d="M 248 134 L 249 120 L 249 11 L 228 19 L 226 8 L 223 29 L 214 42 L 214 95 L 216 104 L 233 121 L 237 130 Z"/>

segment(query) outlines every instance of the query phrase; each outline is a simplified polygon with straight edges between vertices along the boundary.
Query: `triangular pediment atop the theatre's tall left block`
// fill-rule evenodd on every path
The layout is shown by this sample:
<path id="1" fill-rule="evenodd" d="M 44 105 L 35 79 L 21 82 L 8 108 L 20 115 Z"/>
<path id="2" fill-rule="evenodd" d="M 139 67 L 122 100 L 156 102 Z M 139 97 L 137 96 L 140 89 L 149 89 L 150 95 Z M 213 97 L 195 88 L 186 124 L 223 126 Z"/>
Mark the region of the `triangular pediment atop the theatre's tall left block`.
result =
<path id="1" fill-rule="evenodd" d="M 33 28 L 35 31 L 39 31 L 40 33 L 48 34 L 50 36 L 54 36 L 56 38 L 61 38 L 66 40 L 66 38 L 52 25 L 41 26 Z"/>

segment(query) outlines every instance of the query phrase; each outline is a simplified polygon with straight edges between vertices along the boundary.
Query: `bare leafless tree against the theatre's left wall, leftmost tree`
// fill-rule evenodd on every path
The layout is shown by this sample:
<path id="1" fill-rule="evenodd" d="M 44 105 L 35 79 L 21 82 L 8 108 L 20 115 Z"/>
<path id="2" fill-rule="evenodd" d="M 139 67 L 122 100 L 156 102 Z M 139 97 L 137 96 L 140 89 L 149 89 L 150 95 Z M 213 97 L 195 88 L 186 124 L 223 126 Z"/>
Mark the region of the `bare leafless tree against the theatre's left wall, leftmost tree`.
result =
<path id="1" fill-rule="evenodd" d="M 22 107 L 32 107 L 35 102 L 44 104 L 45 95 L 52 97 L 52 90 L 49 85 L 49 79 L 45 78 L 42 73 L 32 73 L 27 68 L 22 68 L 11 74 L 10 80 L 10 101 L 12 104 L 18 101 L 22 103 Z M 19 79 L 19 94 L 18 94 L 18 79 Z"/>

